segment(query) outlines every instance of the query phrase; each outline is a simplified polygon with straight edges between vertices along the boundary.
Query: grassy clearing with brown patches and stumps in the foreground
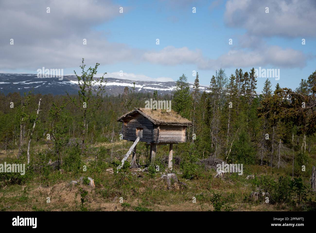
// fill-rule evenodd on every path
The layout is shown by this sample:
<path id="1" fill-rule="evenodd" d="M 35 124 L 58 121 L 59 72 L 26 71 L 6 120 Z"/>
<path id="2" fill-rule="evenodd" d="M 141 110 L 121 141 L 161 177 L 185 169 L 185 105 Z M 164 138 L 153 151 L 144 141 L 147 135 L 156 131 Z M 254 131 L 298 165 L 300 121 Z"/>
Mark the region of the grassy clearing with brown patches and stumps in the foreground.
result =
<path id="1" fill-rule="evenodd" d="M 141 169 L 125 166 L 119 173 L 106 171 L 109 168 L 116 170 L 114 164 L 118 164 L 130 146 L 131 142 L 126 141 L 93 145 L 84 156 L 79 157 L 80 167 L 72 168 L 72 171 L 67 167 L 54 170 L 47 166 L 48 160 L 54 159 L 48 152 L 48 146 L 35 146 L 32 154 L 34 163 L 27 171 L 25 180 L 19 183 L 19 181 L 2 179 L 0 209 L 2 211 L 214 211 L 214 206 L 219 206 L 221 211 L 310 211 L 316 208 L 313 192 L 306 194 L 305 201 L 292 200 L 290 204 L 285 201 L 282 203 L 282 200 L 266 203 L 264 197 L 257 199 L 253 196 L 253 192 L 257 189 L 254 179 L 246 179 L 247 175 L 256 177 L 270 175 L 277 181 L 279 176 L 289 176 L 289 171 L 292 171 L 292 166 L 289 165 L 280 169 L 244 165 L 243 175 L 225 173 L 222 178 L 215 178 L 214 169 L 200 169 L 198 177 L 185 179 L 181 166 L 175 163 L 173 172 L 177 174 L 179 182 L 173 182 L 168 187 L 161 179 L 161 174 L 166 173 L 167 165 L 164 157 L 167 155 L 168 147 L 160 146 L 157 149 L 156 159 L 160 166 L 159 172 L 153 169 L 141 171 L 145 166 Z M 179 150 L 180 148 L 175 147 L 175 157 L 181 154 Z M 137 152 L 139 164 L 144 165 L 148 160 L 146 145 L 139 143 Z M 15 154 L 16 151 L 6 151 L 6 154 L 2 151 L 0 159 L 10 161 L 15 158 Z M 312 159 L 315 161 L 315 158 Z M 67 159 L 64 159 L 63 163 L 67 164 Z M 44 166 L 40 169 L 32 169 L 39 164 Z M 87 167 L 86 171 L 83 171 L 84 166 Z M 79 180 L 80 177 L 91 177 L 94 179 L 95 187 L 89 186 L 87 182 L 70 184 L 71 180 Z M 308 174 L 302 176 L 302 182 L 307 188 L 310 187 Z"/>

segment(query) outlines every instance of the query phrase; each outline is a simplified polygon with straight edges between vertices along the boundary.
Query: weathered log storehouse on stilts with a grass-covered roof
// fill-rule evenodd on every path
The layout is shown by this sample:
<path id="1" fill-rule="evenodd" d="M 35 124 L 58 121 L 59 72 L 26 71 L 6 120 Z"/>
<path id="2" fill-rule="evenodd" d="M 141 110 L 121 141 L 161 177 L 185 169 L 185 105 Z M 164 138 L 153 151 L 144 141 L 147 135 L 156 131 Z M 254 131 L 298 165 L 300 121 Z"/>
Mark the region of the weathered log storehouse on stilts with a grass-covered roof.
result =
<path id="1" fill-rule="evenodd" d="M 170 144 L 168 159 L 169 169 L 172 169 L 173 144 L 186 142 L 186 128 L 188 125 L 192 125 L 191 121 L 181 117 L 173 110 L 167 112 L 163 109 L 134 109 L 119 117 L 117 121 L 123 123 L 123 139 L 132 142 L 138 142 L 139 140 L 150 144 L 149 159 L 151 164 L 155 162 L 157 145 Z M 131 166 L 137 167 L 136 144 L 133 148 Z"/>

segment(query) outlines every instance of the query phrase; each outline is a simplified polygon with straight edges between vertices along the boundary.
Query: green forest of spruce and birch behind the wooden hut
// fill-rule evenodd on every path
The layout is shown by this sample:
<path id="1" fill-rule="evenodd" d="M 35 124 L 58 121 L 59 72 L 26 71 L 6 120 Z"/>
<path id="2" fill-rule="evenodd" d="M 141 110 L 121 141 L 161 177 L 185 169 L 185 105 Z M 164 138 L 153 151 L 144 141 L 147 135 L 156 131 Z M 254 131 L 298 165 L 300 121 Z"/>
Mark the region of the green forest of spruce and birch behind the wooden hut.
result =
<path id="1" fill-rule="evenodd" d="M 316 71 L 301 79 L 295 90 L 279 84 L 272 87 L 267 79 L 260 95 L 252 68 L 249 72 L 236 69 L 229 77 L 220 69 L 207 91 L 199 89 L 197 73 L 192 92 L 183 74 L 173 95 L 136 93 L 135 87 L 125 87 L 124 93 L 108 96 L 104 87 L 94 85 L 98 64 L 85 71 L 82 61 L 81 68 L 78 95 L 0 94 L 2 153 L 17 150 L 17 157 L 28 154 L 32 160 L 34 146 L 50 141 L 52 153 L 62 161 L 70 142 L 79 143 L 84 152 L 98 142 L 118 141 L 117 118 L 154 98 L 171 100 L 172 109 L 192 121 L 189 143 L 178 145 L 192 161 L 214 155 L 228 163 L 293 164 L 293 175 L 300 173 L 301 165 L 311 166 L 316 144 Z"/>

